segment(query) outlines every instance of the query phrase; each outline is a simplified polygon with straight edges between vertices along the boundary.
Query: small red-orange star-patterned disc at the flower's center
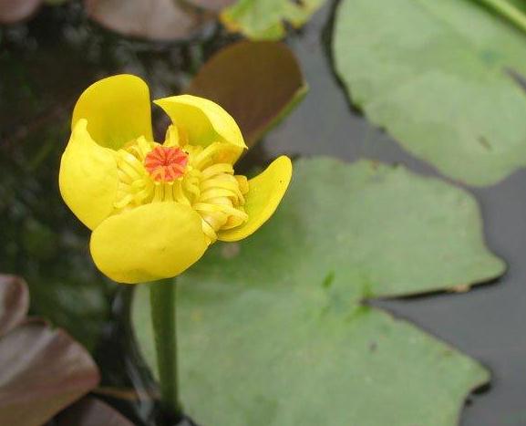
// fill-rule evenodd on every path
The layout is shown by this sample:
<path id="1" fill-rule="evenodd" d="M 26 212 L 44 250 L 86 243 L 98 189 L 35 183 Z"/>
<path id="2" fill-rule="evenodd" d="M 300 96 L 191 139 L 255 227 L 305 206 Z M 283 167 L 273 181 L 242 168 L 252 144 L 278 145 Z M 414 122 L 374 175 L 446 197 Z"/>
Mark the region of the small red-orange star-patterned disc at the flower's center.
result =
<path id="1" fill-rule="evenodd" d="M 156 182 L 173 182 L 180 178 L 188 164 L 188 154 L 177 147 L 158 146 L 144 159 L 144 168 Z"/>

